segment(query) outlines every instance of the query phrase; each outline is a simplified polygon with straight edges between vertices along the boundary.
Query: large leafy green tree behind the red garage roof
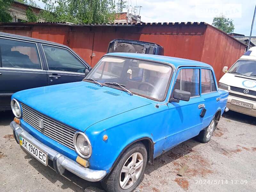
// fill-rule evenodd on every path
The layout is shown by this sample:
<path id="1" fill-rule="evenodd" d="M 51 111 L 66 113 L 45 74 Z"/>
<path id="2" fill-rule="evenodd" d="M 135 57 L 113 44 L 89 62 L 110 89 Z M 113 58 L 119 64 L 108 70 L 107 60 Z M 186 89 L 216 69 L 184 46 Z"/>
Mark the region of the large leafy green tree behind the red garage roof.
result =
<path id="1" fill-rule="evenodd" d="M 49 22 L 107 23 L 114 20 L 115 0 L 42 0 L 40 17 Z"/>

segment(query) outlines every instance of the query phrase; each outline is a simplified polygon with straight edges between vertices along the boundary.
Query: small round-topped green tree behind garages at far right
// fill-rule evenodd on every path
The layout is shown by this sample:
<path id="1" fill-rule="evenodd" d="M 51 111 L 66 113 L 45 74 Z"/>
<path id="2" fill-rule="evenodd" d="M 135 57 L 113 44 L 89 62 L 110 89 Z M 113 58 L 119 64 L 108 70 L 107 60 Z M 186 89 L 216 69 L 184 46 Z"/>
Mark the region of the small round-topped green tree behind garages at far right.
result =
<path id="1" fill-rule="evenodd" d="M 233 20 L 226 18 L 223 14 L 220 14 L 220 16 L 213 18 L 212 26 L 214 26 L 226 33 L 233 33 L 234 29 L 235 29 Z"/>

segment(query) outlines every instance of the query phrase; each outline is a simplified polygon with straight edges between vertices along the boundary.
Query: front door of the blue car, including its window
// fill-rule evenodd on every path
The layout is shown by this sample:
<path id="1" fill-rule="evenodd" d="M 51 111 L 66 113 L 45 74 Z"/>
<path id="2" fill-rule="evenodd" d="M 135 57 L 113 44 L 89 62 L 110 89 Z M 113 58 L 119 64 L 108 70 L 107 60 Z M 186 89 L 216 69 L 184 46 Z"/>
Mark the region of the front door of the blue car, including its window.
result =
<path id="1" fill-rule="evenodd" d="M 200 132 L 203 118 L 200 116 L 204 99 L 200 96 L 199 68 L 180 68 L 173 87 L 191 93 L 189 101 L 168 103 L 169 125 L 166 128 L 164 151 L 173 148 Z"/>

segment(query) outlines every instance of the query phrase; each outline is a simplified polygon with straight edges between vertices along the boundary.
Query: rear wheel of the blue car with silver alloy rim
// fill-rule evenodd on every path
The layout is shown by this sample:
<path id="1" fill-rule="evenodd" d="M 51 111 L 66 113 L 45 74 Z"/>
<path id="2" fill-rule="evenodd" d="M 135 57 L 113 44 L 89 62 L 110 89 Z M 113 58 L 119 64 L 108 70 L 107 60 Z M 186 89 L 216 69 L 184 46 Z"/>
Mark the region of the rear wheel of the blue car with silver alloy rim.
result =
<path id="1" fill-rule="evenodd" d="M 208 127 L 206 127 L 204 130 L 202 130 L 197 135 L 196 139 L 202 143 L 209 142 L 212 138 L 212 133 L 215 131 L 215 126 L 216 126 L 216 119 L 215 119 L 215 117 L 213 117 L 213 119 L 212 119 L 211 123 L 208 125 Z"/>

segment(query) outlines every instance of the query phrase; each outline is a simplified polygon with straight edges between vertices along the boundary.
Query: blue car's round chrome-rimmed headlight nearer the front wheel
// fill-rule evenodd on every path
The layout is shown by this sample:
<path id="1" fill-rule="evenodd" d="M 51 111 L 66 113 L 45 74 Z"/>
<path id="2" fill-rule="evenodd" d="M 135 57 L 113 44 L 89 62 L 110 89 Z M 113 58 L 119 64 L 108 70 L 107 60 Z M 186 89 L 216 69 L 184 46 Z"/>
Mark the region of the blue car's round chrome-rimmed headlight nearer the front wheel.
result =
<path id="1" fill-rule="evenodd" d="M 83 132 L 76 132 L 73 138 L 76 152 L 79 156 L 88 158 L 92 154 L 92 146 L 88 137 Z"/>

